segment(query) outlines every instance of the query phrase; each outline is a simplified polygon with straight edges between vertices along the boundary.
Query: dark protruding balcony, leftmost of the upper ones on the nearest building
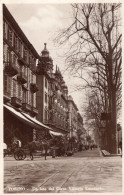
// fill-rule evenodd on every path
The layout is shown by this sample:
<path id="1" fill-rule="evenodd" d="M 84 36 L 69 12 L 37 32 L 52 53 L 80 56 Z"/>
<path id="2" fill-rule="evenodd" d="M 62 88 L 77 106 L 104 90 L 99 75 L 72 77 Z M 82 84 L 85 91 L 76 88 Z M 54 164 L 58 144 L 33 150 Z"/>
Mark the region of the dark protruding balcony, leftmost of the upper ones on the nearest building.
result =
<path id="1" fill-rule="evenodd" d="M 18 68 L 17 66 L 12 63 L 12 62 L 5 62 L 5 68 L 4 71 L 9 75 L 9 76 L 15 76 L 18 74 Z"/>

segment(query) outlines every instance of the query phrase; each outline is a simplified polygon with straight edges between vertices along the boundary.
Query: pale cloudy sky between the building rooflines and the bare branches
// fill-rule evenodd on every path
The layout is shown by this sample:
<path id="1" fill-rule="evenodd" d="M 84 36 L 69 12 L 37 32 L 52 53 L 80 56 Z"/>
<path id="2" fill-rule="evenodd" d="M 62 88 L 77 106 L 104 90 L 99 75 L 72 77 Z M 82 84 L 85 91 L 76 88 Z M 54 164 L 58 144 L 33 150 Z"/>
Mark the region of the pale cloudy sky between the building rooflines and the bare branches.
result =
<path id="1" fill-rule="evenodd" d="M 65 46 L 55 44 L 55 37 L 61 29 L 72 23 L 72 8 L 70 4 L 6 4 L 10 13 L 23 30 L 28 40 L 40 54 L 47 43 L 47 49 L 53 59 L 54 67 L 60 68 L 68 86 L 69 94 L 73 97 L 78 109 L 82 112 L 84 92 L 75 91 L 74 86 L 81 80 L 74 78 L 65 71 Z M 67 47 L 67 45 L 66 45 Z"/>

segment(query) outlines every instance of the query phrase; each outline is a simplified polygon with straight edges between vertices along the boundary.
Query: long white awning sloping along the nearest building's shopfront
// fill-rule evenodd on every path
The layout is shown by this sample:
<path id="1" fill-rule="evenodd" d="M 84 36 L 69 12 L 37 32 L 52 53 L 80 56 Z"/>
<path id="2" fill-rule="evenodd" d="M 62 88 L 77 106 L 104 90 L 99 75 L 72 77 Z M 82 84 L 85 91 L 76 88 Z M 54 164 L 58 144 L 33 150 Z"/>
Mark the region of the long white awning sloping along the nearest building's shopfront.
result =
<path id="1" fill-rule="evenodd" d="M 5 105 L 4 104 L 4 108 L 6 108 L 9 112 L 11 112 L 16 118 L 18 118 L 20 121 L 24 122 L 25 124 L 35 128 L 35 129 L 48 129 L 51 130 L 50 127 L 44 125 L 43 123 L 39 122 L 36 119 L 33 119 L 32 117 L 27 117 L 25 116 L 23 113 L 21 113 L 20 111 L 15 110 L 13 107 Z M 30 119 L 32 118 L 32 119 Z"/>

